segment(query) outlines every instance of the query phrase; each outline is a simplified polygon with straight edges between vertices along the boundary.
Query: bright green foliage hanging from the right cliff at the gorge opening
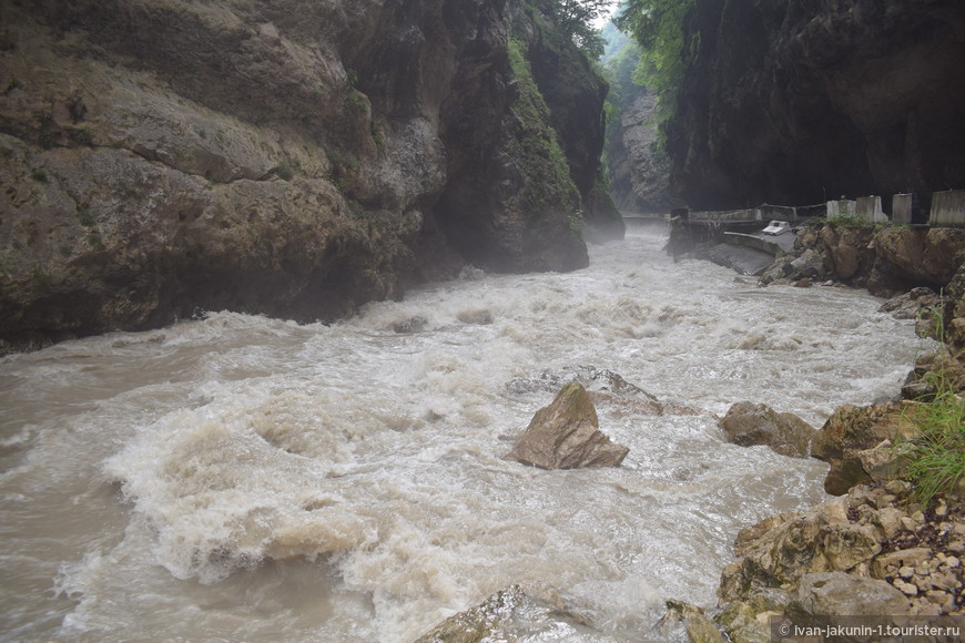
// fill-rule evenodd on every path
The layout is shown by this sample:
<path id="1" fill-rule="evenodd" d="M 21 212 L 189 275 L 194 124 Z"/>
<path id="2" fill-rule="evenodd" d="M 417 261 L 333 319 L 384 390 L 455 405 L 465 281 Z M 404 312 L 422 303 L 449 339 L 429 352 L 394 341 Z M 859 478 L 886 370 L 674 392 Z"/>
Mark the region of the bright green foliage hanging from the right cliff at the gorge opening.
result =
<path id="1" fill-rule="evenodd" d="M 683 22 L 694 0 L 623 0 L 613 19 L 617 27 L 640 44 L 642 53 L 634 81 L 660 98 L 659 118 L 667 120 L 677 104 L 677 92 L 687 62 L 700 49 L 699 35 L 688 38 Z"/>

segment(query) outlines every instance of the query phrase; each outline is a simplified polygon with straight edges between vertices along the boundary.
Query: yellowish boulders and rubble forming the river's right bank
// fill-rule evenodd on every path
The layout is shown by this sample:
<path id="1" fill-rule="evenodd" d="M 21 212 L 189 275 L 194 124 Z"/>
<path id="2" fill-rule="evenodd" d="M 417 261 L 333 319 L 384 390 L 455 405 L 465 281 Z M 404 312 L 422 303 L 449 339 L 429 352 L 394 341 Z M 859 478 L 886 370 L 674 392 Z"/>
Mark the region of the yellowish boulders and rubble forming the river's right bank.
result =
<path id="1" fill-rule="evenodd" d="M 965 614 L 965 479 L 953 479 L 923 501 L 903 479 L 910 477 L 908 461 L 895 447 L 921 435 L 936 381 L 957 394 L 961 410 L 963 239 L 965 231 L 943 228 L 804 228 L 796 254 L 779 259 L 762 278 L 794 285 L 835 279 L 880 295 L 918 286 L 882 309 L 917 317 L 920 334 L 941 343 L 918 358 L 904 399 L 840 407 L 816 432 L 811 455 L 831 465 L 824 487 L 840 498 L 740 532 L 738 560 L 722 574 L 714 618 L 731 640 L 771 641 L 773 616 L 809 624 L 839 616 Z"/>

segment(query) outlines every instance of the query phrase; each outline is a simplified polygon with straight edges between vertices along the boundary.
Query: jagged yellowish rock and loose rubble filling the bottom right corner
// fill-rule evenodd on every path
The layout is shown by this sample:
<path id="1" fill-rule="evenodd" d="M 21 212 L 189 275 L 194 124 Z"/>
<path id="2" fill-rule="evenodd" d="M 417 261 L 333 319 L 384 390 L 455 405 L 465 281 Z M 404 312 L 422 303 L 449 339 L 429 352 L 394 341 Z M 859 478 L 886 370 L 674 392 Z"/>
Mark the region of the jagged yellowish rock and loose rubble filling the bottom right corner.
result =
<path id="1" fill-rule="evenodd" d="M 799 625 L 834 616 L 958 615 L 965 611 L 965 506 L 921 507 L 911 484 L 857 486 L 803 513 L 740 532 L 714 621 L 733 641 L 768 641 L 768 616 Z"/>

